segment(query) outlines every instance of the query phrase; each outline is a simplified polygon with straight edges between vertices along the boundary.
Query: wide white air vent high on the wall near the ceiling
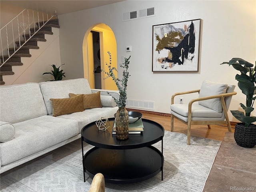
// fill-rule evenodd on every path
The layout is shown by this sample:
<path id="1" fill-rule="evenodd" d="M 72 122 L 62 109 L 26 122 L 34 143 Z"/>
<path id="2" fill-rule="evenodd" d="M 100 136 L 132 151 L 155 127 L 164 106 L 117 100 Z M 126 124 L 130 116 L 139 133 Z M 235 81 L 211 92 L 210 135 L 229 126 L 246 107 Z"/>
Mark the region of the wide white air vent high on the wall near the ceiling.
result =
<path id="1" fill-rule="evenodd" d="M 154 7 L 142 9 L 139 11 L 123 13 L 122 21 L 129 21 L 129 20 L 141 19 L 141 18 L 152 17 L 152 16 L 155 16 Z"/>

